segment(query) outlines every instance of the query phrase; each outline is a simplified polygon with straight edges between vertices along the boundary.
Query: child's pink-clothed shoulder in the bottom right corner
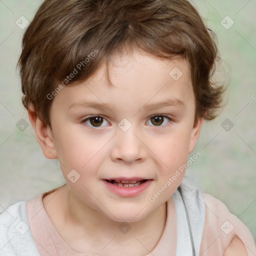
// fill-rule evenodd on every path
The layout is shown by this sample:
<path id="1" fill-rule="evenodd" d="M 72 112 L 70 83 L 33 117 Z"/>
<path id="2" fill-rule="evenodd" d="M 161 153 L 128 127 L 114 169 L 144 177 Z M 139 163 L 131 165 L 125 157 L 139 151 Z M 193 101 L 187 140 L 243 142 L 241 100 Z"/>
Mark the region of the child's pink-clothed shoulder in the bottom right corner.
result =
<path id="1" fill-rule="evenodd" d="M 210 194 L 203 194 L 205 205 L 205 221 L 201 240 L 201 251 L 211 254 L 212 250 L 218 248 L 218 253 L 224 256 L 230 255 L 234 250 L 245 251 L 254 255 L 255 244 L 248 227 L 234 214 L 230 213 L 226 205 Z M 211 244 L 211 246 L 209 246 Z M 246 246 L 245 246 L 246 245 Z M 213 252 L 213 251 L 212 251 Z M 236 254 L 232 254 L 236 255 Z"/>

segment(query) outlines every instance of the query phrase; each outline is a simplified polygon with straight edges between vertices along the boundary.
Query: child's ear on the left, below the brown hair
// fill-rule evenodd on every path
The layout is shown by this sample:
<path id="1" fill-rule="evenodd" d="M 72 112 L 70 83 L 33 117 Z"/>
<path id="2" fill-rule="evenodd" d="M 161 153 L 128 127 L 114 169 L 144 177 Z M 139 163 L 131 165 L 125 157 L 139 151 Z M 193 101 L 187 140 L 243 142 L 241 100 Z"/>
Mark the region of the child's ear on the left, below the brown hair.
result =
<path id="1" fill-rule="evenodd" d="M 41 121 L 39 116 L 35 113 L 34 105 L 32 103 L 29 104 L 27 112 L 35 137 L 42 149 L 44 156 L 49 159 L 57 158 L 51 128 L 49 125 L 46 125 Z"/>

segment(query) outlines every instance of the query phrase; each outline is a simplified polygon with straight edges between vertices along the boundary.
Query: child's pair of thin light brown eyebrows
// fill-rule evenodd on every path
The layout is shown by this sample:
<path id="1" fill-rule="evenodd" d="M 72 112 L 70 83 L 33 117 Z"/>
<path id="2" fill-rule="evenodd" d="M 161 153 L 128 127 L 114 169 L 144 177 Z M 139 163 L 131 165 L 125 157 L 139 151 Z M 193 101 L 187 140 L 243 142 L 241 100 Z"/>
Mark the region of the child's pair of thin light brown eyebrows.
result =
<path id="1" fill-rule="evenodd" d="M 166 99 L 164 101 L 159 101 L 159 102 L 155 102 L 155 103 L 150 103 L 150 104 L 144 104 L 144 106 L 142 106 L 140 108 L 140 110 L 143 108 L 147 111 L 150 110 L 154 110 L 154 109 L 158 109 L 158 108 L 162 108 L 162 107 L 166 107 L 166 106 L 176 106 L 176 107 L 185 107 L 186 104 L 184 101 L 180 100 L 180 99 Z M 114 106 L 114 104 L 112 103 L 98 103 L 98 102 L 94 102 L 94 101 L 86 101 L 86 100 L 81 100 L 78 102 L 75 102 L 73 104 L 71 104 L 69 108 L 77 108 L 77 107 L 90 107 L 90 108 L 96 108 L 96 109 L 104 109 L 104 108 L 108 108 L 112 111 L 115 111 L 116 108 Z M 139 110 L 139 111 L 140 111 Z"/>

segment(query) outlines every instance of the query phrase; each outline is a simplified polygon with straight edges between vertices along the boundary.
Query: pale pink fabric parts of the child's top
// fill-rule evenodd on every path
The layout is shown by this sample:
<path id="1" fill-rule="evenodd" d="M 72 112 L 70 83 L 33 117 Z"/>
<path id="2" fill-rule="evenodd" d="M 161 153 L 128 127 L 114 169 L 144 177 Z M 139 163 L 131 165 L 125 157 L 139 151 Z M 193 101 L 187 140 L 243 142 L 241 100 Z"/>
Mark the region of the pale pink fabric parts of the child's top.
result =
<path id="1" fill-rule="evenodd" d="M 85 256 L 75 251 L 60 237 L 49 219 L 42 203 L 42 197 L 56 190 L 52 189 L 26 202 L 29 226 L 36 247 L 41 256 Z M 248 256 L 256 254 L 255 244 L 249 229 L 218 199 L 203 194 L 205 221 L 200 244 L 200 256 L 222 255 L 234 235 L 244 243 Z M 233 230 L 227 232 L 226 230 Z M 227 234 L 228 233 L 228 234 Z M 167 200 L 167 217 L 163 233 L 153 248 L 145 256 L 175 256 L 177 242 L 176 212 L 172 198 Z M 100 255 L 100 251 L 98 251 Z"/>

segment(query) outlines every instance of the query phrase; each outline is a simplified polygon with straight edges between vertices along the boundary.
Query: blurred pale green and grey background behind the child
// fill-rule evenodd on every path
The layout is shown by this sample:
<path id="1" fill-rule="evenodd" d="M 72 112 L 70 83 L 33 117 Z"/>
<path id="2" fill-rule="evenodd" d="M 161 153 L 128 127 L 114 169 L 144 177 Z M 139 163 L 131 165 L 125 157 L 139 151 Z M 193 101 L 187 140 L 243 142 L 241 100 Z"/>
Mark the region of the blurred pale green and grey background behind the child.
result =
<path id="1" fill-rule="evenodd" d="M 16 62 L 21 38 L 41 1 L 0 0 L 0 212 L 65 183 L 58 161 L 44 157 L 21 104 Z M 255 0 L 193 0 L 218 38 L 228 83 L 227 104 L 205 122 L 187 168 L 205 193 L 226 204 L 256 241 L 256 36 Z"/>

